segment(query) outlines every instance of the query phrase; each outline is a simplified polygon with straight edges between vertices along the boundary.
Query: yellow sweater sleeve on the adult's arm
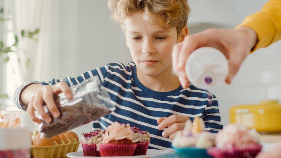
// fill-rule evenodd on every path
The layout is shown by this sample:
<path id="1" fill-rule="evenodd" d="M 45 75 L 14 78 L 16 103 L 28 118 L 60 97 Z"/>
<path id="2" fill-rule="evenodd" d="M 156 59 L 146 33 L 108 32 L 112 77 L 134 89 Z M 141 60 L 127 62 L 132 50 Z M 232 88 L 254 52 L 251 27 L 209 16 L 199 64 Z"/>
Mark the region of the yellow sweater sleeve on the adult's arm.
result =
<path id="1" fill-rule="evenodd" d="M 254 52 L 281 39 L 281 0 L 269 0 L 260 12 L 247 16 L 243 23 L 238 25 L 247 26 L 257 33 L 258 41 Z"/>

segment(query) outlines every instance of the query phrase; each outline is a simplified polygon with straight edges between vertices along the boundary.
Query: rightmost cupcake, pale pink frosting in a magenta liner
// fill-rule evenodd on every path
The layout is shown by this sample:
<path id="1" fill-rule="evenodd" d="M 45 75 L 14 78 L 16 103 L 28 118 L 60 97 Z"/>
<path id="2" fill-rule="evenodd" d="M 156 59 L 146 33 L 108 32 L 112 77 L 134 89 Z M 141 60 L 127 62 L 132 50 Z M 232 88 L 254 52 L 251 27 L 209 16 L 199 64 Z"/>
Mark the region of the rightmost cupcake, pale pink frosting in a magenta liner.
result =
<path id="1" fill-rule="evenodd" d="M 261 151 L 259 133 L 244 125 L 229 124 L 217 134 L 216 147 L 208 150 L 214 157 L 251 158 Z"/>

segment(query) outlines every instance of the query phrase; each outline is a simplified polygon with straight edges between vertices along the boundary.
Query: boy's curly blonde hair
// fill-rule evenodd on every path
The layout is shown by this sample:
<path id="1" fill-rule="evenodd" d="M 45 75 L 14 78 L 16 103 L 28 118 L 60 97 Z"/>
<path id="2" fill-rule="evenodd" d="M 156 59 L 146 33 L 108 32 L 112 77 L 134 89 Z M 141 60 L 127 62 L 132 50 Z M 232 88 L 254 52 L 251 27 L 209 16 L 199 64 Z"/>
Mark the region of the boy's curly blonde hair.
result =
<path id="1" fill-rule="evenodd" d="M 165 29 L 176 27 L 178 37 L 187 25 L 190 12 L 187 0 L 109 0 L 112 19 L 125 32 L 124 20 L 132 12 L 143 12 L 143 18 L 154 25 L 163 25 Z"/>

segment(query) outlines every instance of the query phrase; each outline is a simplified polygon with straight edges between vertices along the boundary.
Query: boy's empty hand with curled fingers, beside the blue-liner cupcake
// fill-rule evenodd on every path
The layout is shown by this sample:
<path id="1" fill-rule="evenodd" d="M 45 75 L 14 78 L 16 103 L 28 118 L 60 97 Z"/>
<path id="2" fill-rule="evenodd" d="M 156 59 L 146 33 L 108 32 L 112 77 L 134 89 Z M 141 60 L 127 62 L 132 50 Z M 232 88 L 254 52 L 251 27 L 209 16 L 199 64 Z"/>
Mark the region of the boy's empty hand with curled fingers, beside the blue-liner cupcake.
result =
<path id="1" fill-rule="evenodd" d="M 163 117 L 157 120 L 158 130 L 163 130 L 168 127 L 162 133 L 162 136 L 167 138 L 169 137 L 171 140 L 176 136 L 176 132 L 183 130 L 185 126 L 185 122 L 190 120 L 188 116 L 184 115 L 171 115 L 169 117 Z"/>

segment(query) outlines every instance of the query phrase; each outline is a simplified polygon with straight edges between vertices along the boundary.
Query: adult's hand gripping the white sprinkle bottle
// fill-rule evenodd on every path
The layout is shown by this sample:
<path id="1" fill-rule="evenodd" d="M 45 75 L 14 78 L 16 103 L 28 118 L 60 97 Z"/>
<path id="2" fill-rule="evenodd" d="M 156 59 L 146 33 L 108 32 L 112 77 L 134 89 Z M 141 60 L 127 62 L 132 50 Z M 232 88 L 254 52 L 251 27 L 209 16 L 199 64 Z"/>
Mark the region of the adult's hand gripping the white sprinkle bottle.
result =
<path id="1" fill-rule="evenodd" d="M 185 63 L 188 56 L 200 47 L 214 47 L 220 50 L 229 60 L 229 73 L 225 82 L 230 84 L 242 62 L 256 43 L 256 32 L 246 26 L 234 30 L 207 29 L 200 33 L 188 35 L 182 42 L 174 45 L 172 52 L 173 68 L 179 76 L 182 87 L 187 88 L 189 81 L 185 74 Z"/>

